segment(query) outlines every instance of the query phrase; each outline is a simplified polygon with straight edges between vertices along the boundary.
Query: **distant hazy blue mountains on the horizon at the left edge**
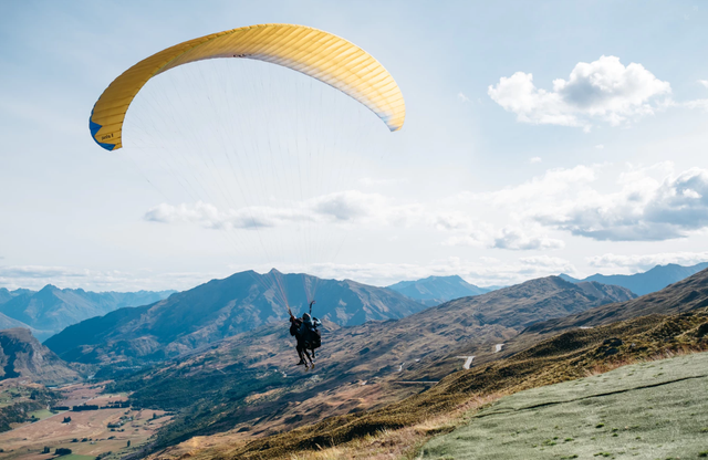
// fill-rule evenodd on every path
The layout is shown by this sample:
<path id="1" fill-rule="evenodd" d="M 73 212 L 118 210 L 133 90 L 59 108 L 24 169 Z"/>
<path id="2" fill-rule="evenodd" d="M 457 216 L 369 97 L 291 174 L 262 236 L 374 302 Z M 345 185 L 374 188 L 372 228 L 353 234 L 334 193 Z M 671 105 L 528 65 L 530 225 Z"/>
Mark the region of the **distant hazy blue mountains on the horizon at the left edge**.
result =
<path id="1" fill-rule="evenodd" d="M 175 291 L 87 292 L 51 284 L 40 291 L 3 288 L 0 289 L 0 330 L 27 327 L 42 341 L 80 321 L 124 306 L 155 303 L 173 293 Z"/>

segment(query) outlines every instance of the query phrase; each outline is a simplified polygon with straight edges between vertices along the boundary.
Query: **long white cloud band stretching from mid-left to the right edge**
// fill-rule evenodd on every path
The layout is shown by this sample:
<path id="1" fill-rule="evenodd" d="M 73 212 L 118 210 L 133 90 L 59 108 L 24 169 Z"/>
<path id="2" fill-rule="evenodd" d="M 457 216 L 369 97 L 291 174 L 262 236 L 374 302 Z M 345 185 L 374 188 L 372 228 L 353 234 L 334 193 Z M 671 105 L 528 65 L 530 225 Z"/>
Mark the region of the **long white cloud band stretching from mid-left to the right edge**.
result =
<path id="1" fill-rule="evenodd" d="M 144 218 L 154 222 L 191 222 L 209 229 L 260 229 L 316 224 L 417 227 L 442 233 L 444 245 L 512 251 L 558 250 L 565 232 L 597 241 L 665 241 L 708 228 L 708 169 L 680 172 L 669 161 L 627 166 L 614 190 L 597 182 L 607 165 L 549 169 L 522 184 L 488 192 L 461 192 L 436 202 L 399 203 L 379 194 L 357 190 L 330 194 L 282 207 L 220 210 L 197 202 L 162 203 Z M 504 221 L 482 220 L 483 207 L 502 212 Z M 361 228 L 361 227 L 360 227 Z"/>

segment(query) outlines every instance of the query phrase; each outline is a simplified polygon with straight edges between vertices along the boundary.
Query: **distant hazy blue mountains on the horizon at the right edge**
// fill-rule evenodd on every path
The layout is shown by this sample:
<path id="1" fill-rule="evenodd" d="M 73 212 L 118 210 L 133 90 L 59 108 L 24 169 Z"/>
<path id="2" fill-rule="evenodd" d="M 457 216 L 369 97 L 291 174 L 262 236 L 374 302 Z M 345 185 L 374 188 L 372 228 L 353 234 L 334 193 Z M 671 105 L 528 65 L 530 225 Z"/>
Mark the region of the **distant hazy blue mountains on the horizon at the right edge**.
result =
<path id="1" fill-rule="evenodd" d="M 650 292 L 660 291 L 664 288 L 677 281 L 684 280 L 701 270 L 708 269 L 708 262 L 698 263 L 691 266 L 683 266 L 675 263 L 667 265 L 656 265 L 649 271 L 635 274 L 593 274 L 584 280 L 577 280 L 566 274 L 560 276 L 565 281 L 579 283 L 581 281 L 596 281 L 603 284 L 614 284 L 623 286 L 637 295 L 648 294 Z"/>

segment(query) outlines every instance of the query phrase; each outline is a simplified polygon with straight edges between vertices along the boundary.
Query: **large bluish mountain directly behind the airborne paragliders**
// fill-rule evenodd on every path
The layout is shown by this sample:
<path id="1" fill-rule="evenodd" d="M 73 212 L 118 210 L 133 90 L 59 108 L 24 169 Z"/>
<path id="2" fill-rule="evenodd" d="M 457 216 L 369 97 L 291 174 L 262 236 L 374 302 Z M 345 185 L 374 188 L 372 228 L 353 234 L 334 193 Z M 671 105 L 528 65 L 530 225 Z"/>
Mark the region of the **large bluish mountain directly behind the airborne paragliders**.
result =
<path id="1" fill-rule="evenodd" d="M 288 324 L 316 296 L 313 315 L 341 326 L 402 318 L 425 309 L 395 291 L 351 280 L 253 271 L 212 280 L 152 305 L 72 325 L 45 344 L 67 360 L 106 363 L 177 356 L 264 324 Z"/>

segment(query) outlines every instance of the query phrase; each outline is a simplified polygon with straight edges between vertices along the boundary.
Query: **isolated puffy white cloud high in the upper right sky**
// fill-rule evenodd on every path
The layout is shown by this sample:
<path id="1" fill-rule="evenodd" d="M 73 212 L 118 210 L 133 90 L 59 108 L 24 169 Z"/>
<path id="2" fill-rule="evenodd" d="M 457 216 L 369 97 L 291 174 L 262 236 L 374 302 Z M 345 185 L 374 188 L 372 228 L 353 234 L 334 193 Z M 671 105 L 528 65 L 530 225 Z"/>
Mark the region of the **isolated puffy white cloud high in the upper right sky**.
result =
<path id="1" fill-rule="evenodd" d="M 517 72 L 490 85 L 487 93 L 516 113 L 519 122 L 577 126 L 587 132 L 596 121 L 618 126 L 654 114 L 657 105 L 652 102 L 668 97 L 671 87 L 642 64 L 624 66 L 618 58 L 603 55 L 577 63 L 568 81 L 553 81 L 552 91 L 538 88 L 532 74 Z"/>

